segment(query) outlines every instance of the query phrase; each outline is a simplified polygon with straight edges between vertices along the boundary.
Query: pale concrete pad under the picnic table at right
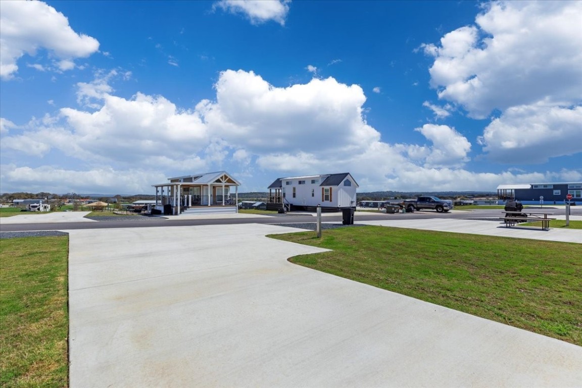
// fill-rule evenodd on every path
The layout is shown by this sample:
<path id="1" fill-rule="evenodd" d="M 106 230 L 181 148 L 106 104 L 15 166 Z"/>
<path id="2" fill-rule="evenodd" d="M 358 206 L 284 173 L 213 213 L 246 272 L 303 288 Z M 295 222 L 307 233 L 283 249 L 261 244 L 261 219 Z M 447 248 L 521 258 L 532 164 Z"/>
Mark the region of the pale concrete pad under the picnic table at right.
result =
<path id="1" fill-rule="evenodd" d="M 480 221 L 467 219 L 431 218 L 431 219 L 399 219 L 354 222 L 365 225 L 404 227 L 410 229 L 437 230 L 439 232 L 484 234 L 486 236 L 514 237 L 516 239 L 532 239 L 546 241 L 562 241 L 563 243 L 582 243 L 580 229 L 541 227 L 505 227 L 505 223 L 495 221 Z"/>

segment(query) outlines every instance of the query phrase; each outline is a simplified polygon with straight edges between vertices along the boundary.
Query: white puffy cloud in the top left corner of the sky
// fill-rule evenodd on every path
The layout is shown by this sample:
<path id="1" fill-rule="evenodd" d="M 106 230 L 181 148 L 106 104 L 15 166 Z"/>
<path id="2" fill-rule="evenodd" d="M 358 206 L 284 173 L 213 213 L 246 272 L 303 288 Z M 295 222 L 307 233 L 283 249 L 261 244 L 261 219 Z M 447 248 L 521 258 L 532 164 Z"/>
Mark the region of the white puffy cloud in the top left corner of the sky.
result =
<path id="1" fill-rule="evenodd" d="M 0 14 L 0 77 L 10 79 L 18 70 L 17 61 L 24 54 L 36 55 L 47 49 L 59 60 L 61 70 L 74 67 L 74 58 L 85 58 L 99 49 L 99 42 L 78 34 L 69 20 L 41 1 L 3 1 Z"/>

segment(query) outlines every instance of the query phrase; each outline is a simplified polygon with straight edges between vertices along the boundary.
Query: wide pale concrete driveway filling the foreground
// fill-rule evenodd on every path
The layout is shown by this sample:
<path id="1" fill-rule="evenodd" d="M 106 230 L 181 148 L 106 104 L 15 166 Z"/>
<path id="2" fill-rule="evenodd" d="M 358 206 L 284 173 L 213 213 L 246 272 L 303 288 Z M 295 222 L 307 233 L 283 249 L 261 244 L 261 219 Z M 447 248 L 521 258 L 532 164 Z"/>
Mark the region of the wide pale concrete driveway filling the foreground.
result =
<path id="1" fill-rule="evenodd" d="M 582 347 L 290 264 L 292 231 L 70 231 L 70 387 L 580 386 Z"/>

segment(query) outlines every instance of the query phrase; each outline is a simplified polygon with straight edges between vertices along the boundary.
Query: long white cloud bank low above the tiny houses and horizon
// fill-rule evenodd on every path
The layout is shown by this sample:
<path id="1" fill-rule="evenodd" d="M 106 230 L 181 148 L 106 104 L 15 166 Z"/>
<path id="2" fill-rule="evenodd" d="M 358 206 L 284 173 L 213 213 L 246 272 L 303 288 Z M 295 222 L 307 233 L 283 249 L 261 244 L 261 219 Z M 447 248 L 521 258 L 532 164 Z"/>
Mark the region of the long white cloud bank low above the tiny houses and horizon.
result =
<path id="1" fill-rule="evenodd" d="M 445 125 L 416 129 L 428 145 L 385 143 L 365 121 L 361 87 L 331 77 L 278 87 L 253 72 L 226 70 L 214 98 L 184 109 L 161 95 L 114 95 L 109 81 L 124 75 L 102 72 L 77 84 L 82 108 L 61 108 L 24 125 L 2 118 L 3 190 L 152 193 L 151 184 L 167 176 L 218 169 L 253 181 L 242 190 L 261 191 L 271 180 L 261 183 L 255 173 L 350 172 L 361 191 L 491 190 L 580 173 L 471 172 L 463 168 L 471 144 Z M 495 138 L 482 144 L 494 147 Z M 65 156 L 60 166 L 49 165 L 55 154 Z"/>

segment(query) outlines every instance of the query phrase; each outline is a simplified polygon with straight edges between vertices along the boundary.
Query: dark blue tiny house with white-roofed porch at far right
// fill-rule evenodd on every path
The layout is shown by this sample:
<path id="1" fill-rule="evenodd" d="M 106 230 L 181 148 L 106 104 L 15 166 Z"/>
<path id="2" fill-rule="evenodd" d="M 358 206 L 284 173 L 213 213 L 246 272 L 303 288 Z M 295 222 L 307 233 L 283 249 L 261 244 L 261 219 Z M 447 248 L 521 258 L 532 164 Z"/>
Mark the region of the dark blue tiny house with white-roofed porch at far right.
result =
<path id="1" fill-rule="evenodd" d="M 516 183 L 497 187 L 497 199 L 502 202 L 516 200 L 523 204 L 539 204 L 543 200 L 544 204 L 565 204 L 567 194 L 572 195 L 571 203 L 582 202 L 582 182 Z"/>

